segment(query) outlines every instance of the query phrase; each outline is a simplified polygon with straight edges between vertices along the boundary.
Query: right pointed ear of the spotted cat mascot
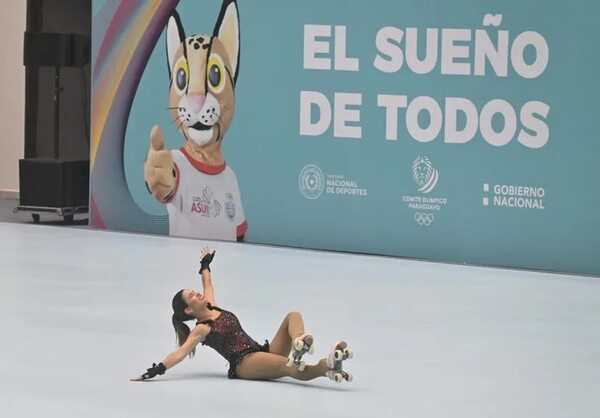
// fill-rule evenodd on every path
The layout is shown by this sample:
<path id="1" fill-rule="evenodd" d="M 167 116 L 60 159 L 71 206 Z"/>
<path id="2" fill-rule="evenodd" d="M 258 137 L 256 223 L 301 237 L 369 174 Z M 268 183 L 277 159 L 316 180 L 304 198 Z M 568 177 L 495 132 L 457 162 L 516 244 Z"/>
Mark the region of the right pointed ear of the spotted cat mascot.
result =
<path id="1" fill-rule="evenodd" d="M 240 72 L 240 16 L 235 0 L 223 1 L 213 35 L 225 45 L 235 83 Z"/>

